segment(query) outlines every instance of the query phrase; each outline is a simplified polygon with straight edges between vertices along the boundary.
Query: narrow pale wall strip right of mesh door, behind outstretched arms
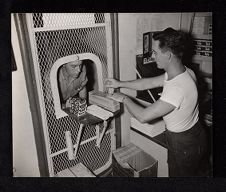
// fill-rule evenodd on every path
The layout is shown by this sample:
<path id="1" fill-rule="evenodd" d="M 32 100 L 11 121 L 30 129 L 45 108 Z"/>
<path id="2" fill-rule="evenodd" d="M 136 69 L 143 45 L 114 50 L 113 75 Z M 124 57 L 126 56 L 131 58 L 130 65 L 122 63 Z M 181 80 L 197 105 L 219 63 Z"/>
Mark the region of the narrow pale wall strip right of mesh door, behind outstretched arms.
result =
<path id="1" fill-rule="evenodd" d="M 120 80 L 136 78 L 133 70 L 136 58 L 136 20 L 133 14 L 118 14 L 119 24 L 119 70 Z M 122 92 L 135 95 L 134 91 L 121 89 Z M 126 110 L 126 109 L 125 109 Z M 130 142 L 130 114 L 125 111 L 121 116 L 121 144 Z"/>

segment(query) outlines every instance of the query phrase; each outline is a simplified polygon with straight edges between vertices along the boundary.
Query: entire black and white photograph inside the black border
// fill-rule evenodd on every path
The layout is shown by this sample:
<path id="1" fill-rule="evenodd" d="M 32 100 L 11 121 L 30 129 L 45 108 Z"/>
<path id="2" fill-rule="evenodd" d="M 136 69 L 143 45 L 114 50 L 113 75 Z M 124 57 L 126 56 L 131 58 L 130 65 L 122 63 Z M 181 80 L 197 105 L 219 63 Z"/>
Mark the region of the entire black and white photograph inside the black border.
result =
<path id="1" fill-rule="evenodd" d="M 213 177 L 213 28 L 212 12 L 11 13 L 13 177 Z"/>

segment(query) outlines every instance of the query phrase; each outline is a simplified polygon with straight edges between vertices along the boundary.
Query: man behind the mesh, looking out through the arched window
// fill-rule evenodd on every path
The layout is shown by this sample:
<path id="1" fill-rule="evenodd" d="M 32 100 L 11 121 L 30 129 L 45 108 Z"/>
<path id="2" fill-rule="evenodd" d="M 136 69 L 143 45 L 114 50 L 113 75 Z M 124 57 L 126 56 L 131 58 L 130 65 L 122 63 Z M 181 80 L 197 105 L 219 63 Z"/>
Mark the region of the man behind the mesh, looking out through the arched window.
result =
<path id="1" fill-rule="evenodd" d="M 59 88 L 63 107 L 66 101 L 74 96 L 81 99 L 87 98 L 86 83 L 86 67 L 82 61 L 76 60 L 64 64 L 59 71 Z"/>

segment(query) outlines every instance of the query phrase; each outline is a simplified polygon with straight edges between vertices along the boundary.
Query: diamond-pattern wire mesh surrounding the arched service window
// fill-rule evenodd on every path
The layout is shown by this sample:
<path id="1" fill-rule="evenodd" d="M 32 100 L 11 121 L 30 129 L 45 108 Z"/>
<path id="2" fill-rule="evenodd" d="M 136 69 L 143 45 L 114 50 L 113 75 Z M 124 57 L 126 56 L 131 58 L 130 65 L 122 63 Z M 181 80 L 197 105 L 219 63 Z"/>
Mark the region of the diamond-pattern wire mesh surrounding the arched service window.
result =
<path id="1" fill-rule="evenodd" d="M 50 86 L 50 70 L 55 61 L 61 57 L 78 53 L 93 53 L 100 58 L 103 78 L 107 77 L 107 41 L 106 27 L 95 26 L 104 23 L 104 14 L 32 14 L 37 46 L 38 68 L 41 77 L 42 93 L 45 105 L 47 132 L 51 154 L 66 148 L 65 131 L 71 131 L 75 144 L 79 123 L 72 117 L 56 119 Z M 88 25 L 89 27 L 85 27 Z M 92 26 L 90 26 L 92 25 Z M 68 29 L 67 26 L 70 26 Z M 73 26 L 74 28 L 71 28 Z M 76 28 L 78 26 L 79 28 Z M 59 29 L 57 29 L 59 27 Z M 40 30 L 37 30 L 40 29 Z M 45 30 L 46 28 L 46 30 Z M 51 28 L 51 30 L 50 30 Z M 65 28 L 65 29 L 63 29 Z M 89 82 L 89 81 L 88 81 Z M 100 124 L 103 127 L 103 124 Z M 110 126 L 109 129 L 112 129 Z M 95 125 L 86 126 L 82 140 L 95 137 Z M 95 140 L 80 146 L 78 157 L 69 161 L 66 152 L 52 158 L 54 174 L 70 166 L 83 162 L 92 171 L 104 166 L 111 156 L 111 137 L 106 134 L 100 149 L 95 147 Z M 47 145 L 48 146 L 48 145 Z M 88 153 L 87 153 L 88 150 Z M 84 155 L 86 154 L 86 155 Z"/>

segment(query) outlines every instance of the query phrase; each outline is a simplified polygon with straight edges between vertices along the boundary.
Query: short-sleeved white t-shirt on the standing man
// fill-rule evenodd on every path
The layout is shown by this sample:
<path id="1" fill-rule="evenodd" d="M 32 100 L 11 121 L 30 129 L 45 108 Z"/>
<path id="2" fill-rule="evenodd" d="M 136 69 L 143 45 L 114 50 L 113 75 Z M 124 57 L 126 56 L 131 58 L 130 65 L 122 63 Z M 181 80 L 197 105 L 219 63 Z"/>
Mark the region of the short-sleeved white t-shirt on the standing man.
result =
<path id="1" fill-rule="evenodd" d="M 163 92 L 160 99 L 176 108 L 163 117 L 166 128 L 172 132 L 190 129 L 198 121 L 198 91 L 194 72 L 186 67 L 185 72 L 167 80 L 165 73 Z"/>

